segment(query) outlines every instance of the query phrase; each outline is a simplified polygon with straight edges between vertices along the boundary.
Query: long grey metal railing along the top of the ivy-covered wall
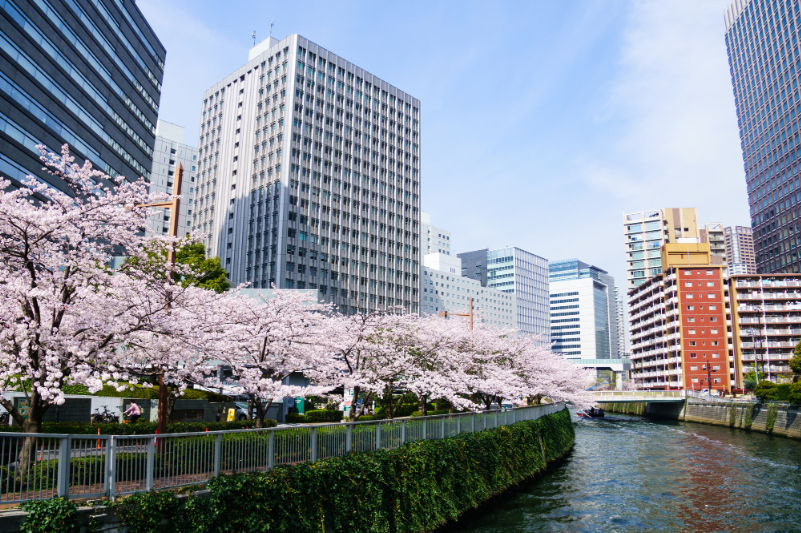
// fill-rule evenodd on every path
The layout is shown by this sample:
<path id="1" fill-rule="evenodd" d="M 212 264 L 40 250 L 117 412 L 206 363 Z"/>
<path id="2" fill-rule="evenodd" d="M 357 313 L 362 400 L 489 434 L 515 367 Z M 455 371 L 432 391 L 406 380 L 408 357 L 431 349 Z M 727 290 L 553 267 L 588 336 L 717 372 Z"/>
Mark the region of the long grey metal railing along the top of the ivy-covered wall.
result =
<path id="1" fill-rule="evenodd" d="M 453 437 L 565 408 L 563 403 L 427 417 L 164 435 L 0 433 L 0 504 L 101 498 L 201 485 L 220 473 L 265 471 Z"/>

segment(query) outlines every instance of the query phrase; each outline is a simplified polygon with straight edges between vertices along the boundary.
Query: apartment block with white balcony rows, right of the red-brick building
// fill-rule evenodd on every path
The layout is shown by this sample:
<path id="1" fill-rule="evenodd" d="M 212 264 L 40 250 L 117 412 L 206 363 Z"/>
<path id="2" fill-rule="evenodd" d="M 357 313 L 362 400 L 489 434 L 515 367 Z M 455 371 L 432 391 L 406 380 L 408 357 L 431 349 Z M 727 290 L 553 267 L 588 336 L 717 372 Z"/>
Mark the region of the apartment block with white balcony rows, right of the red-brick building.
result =
<path id="1" fill-rule="evenodd" d="M 789 382 L 788 366 L 801 341 L 801 276 L 745 274 L 729 278 L 731 331 L 741 376 L 757 367 L 762 378 Z"/>

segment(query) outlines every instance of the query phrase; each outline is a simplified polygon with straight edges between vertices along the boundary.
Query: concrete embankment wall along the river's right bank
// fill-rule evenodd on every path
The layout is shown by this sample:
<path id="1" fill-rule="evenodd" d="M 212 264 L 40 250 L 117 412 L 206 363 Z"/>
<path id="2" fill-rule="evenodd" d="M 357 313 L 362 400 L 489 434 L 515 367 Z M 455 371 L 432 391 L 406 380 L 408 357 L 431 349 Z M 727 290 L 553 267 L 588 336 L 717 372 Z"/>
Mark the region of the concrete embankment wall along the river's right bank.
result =
<path id="1" fill-rule="evenodd" d="M 704 401 L 688 398 L 683 403 L 602 403 L 611 413 L 685 420 L 728 426 L 801 439 L 799 407 L 746 402 Z"/>

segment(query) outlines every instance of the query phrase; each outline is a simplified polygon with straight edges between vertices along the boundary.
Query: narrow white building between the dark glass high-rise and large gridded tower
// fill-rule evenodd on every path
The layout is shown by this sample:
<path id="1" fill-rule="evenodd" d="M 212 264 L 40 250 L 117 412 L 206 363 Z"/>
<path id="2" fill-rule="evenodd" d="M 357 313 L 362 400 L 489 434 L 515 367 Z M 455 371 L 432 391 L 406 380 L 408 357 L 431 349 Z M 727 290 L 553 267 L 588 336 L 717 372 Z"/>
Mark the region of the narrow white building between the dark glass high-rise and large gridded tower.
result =
<path id="1" fill-rule="evenodd" d="M 197 175 L 197 148 L 184 144 L 184 128 L 159 120 L 156 123 L 156 143 L 153 147 L 153 163 L 150 170 L 151 193 L 173 193 L 175 168 L 181 163 L 184 176 L 181 186 L 181 207 L 178 216 L 178 236 L 192 233 L 192 213 L 195 176 Z M 170 210 L 159 209 L 150 217 L 148 232 L 169 235 Z"/>

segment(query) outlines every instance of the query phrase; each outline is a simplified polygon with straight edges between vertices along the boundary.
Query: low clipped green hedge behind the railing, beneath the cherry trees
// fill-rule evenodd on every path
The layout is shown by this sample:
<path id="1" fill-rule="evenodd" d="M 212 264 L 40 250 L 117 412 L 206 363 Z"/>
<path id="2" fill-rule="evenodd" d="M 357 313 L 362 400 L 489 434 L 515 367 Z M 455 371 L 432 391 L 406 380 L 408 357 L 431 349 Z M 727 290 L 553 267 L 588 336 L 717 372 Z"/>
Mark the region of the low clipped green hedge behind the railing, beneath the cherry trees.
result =
<path id="1" fill-rule="evenodd" d="M 275 420 L 265 418 L 264 427 L 275 427 Z M 226 429 L 245 429 L 255 427 L 254 420 L 237 420 L 235 422 L 173 422 L 167 424 L 167 433 L 195 433 L 206 431 L 223 431 Z M 20 431 L 19 426 L 0 426 L 0 432 Z M 70 424 L 44 423 L 42 433 L 71 433 L 73 435 L 152 435 L 156 432 L 155 422 L 136 422 L 135 424 Z"/>

